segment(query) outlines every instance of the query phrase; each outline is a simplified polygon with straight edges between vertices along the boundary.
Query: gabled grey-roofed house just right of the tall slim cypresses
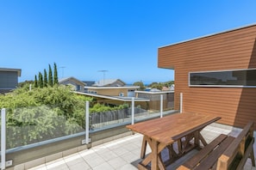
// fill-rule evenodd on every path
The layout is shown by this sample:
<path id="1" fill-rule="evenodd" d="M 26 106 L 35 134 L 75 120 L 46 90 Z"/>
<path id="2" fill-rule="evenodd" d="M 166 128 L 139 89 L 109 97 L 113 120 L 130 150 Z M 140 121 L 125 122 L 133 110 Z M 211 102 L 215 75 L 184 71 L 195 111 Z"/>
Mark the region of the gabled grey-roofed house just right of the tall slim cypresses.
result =
<path id="1" fill-rule="evenodd" d="M 86 85 L 84 82 L 81 82 L 72 76 L 59 79 L 59 84 L 71 86 L 72 90 L 77 91 L 77 92 L 84 92 L 84 86 Z"/>

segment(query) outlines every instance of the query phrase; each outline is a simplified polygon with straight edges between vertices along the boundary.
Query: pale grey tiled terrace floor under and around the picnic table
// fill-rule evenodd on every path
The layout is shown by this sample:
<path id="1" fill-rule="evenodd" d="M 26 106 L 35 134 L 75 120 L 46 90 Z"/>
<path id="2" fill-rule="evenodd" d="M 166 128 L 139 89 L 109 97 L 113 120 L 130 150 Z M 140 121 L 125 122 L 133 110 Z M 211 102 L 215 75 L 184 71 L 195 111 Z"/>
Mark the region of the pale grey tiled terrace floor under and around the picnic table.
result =
<path id="1" fill-rule="evenodd" d="M 232 131 L 230 131 L 232 130 Z M 219 134 L 224 133 L 234 137 L 240 132 L 240 129 L 232 129 L 230 127 L 225 127 L 222 124 L 215 124 L 214 126 L 207 126 L 203 131 L 202 135 L 206 138 L 209 143 Z M 256 137 L 256 134 L 254 134 Z M 122 137 L 116 139 L 109 143 L 103 143 L 92 147 L 91 149 L 84 149 L 78 153 L 65 156 L 56 161 L 50 161 L 46 164 L 42 164 L 37 167 L 32 167 L 30 170 L 133 170 L 137 169 L 137 164 L 140 159 L 140 149 L 142 144 L 142 135 L 134 134 L 129 137 Z M 173 144 L 175 150 L 177 149 L 177 143 Z M 254 153 L 256 153 L 256 143 L 254 143 Z M 150 147 L 147 145 L 147 154 L 151 152 Z M 167 169 L 173 169 L 182 164 L 183 161 L 189 159 L 190 156 L 194 155 L 196 152 L 190 152 L 185 155 L 182 159 L 175 161 L 172 166 L 168 166 Z M 163 157 L 167 158 L 168 153 L 164 152 Z M 245 170 L 256 170 L 252 167 L 250 160 L 247 161 Z"/>

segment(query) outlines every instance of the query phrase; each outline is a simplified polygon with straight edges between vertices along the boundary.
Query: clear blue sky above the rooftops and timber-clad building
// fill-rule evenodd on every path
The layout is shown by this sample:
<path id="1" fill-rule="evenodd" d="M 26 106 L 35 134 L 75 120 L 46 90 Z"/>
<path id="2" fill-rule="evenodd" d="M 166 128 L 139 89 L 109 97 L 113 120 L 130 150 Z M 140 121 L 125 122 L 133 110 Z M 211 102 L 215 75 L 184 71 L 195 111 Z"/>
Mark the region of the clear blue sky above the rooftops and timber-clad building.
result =
<path id="1" fill-rule="evenodd" d="M 56 63 L 59 78 L 166 82 L 157 52 L 186 39 L 256 23 L 255 0 L 3 0 L 0 68 L 34 80 Z"/>

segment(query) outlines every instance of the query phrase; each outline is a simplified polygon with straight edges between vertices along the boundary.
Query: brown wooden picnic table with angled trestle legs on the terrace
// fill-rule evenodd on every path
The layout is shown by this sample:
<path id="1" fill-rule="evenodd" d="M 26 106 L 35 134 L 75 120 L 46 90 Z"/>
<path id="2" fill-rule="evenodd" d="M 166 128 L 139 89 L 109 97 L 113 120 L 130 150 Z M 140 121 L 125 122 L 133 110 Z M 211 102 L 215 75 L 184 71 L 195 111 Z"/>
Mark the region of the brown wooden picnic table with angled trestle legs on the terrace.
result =
<path id="1" fill-rule="evenodd" d="M 145 158 L 138 164 L 139 169 L 165 169 L 165 163 L 161 159 L 161 151 L 165 148 L 169 150 L 171 157 L 180 157 L 190 149 L 200 147 L 200 142 L 207 145 L 200 131 L 211 123 L 214 123 L 220 117 L 199 114 L 199 113 L 176 113 L 163 118 L 155 118 L 140 122 L 137 124 L 127 125 L 131 131 L 142 134 L 143 142 L 140 157 Z M 193 143 L 191 143 L 193 139 Z M 174 151 L 172 144 L 178 143 L 178 152 Z M 152 152 L 145 157 L 146 147 L 149 144 Z"/>

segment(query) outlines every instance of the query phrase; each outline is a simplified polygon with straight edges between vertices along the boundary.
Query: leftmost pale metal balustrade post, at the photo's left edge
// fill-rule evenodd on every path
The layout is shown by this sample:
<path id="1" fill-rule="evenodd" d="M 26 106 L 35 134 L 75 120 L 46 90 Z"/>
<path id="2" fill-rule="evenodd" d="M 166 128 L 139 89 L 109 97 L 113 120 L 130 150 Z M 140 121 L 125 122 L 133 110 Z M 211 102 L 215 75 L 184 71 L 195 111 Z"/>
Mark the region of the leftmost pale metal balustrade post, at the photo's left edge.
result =
<path id="1" fill-rule="evenodd" d="M 6 154 L 6 114 L 5 108 L 1 110 L 1 169 L 5 169 Z"/>

